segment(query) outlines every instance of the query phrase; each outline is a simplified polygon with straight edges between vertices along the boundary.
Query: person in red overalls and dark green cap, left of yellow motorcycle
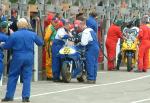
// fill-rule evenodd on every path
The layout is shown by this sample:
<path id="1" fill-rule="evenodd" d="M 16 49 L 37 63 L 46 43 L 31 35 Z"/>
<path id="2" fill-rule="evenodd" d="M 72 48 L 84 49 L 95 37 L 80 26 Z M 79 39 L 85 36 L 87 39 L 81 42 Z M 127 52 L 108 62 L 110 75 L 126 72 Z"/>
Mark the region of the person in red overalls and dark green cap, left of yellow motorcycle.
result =
<path id="1" fill-rule="evenodd" d="M 106 39 L 106 49 L 108 57 L 108 70 L 115 70 L 116 45 L 119 38 L 123 38 L 121 32 L 122 20 L 116 20 L 108 29 Z"/>

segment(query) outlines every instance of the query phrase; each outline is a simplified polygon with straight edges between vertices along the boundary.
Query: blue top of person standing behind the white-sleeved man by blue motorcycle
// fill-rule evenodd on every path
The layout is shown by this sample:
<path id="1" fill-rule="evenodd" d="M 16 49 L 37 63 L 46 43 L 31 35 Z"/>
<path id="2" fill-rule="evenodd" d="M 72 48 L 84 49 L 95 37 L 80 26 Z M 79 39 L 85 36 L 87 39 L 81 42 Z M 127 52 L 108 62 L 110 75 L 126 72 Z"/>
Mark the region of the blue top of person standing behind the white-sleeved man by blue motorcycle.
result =
<path id="1" fill-rule="evenodd" d="M 89 18 L 86 20 L 86 26 L 92 28 L 97 33 L 98 24 L 94 17 L 89 16 Z"/>

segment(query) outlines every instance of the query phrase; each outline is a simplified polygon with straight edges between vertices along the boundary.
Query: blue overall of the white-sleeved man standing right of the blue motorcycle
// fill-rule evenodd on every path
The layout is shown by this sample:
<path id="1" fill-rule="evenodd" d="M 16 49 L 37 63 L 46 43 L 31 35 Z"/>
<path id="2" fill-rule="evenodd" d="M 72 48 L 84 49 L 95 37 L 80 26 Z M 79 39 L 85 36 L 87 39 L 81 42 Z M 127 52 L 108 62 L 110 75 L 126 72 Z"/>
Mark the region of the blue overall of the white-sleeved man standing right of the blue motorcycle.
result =
<path id="1" fill-rule="evenodd" d="M 96 80 L 98 68 L 99 44 L 95 31 L 90 31 L 93 41 L 86 46 L 86 70 L 87 80 Z"/>

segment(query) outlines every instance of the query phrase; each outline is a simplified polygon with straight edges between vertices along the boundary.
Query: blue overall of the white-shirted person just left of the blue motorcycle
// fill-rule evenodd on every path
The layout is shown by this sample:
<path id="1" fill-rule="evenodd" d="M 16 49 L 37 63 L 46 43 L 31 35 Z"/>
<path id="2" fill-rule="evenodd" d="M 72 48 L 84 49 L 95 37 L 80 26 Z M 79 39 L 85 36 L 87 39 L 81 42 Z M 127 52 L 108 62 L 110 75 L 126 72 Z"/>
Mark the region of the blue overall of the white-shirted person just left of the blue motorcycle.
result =
<path id="1" fill-rule="evenodd" d="M 54 39 L 52 44 L 52 71 L 54 80 L 60 79 L 61 59 L 59 56 L 59 50 L 64 44 L 65 42 L 59 39 Z"/>

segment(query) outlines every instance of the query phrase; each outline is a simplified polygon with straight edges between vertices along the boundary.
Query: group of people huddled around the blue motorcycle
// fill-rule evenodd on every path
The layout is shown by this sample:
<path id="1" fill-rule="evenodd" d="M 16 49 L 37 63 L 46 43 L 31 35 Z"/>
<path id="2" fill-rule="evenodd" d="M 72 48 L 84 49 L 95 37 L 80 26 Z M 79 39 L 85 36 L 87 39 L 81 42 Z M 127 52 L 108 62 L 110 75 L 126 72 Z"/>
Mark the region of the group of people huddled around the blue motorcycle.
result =
<path id="1" fill-rule="evenodd" d="M 86 20 L 83 14 L 77 15 L 73 23 L 68 19 L 63 19 L 59 14 L 48 15 L 45 20 L 45 54 L 46 55 L 46 76 L 47 80 L 53 80 L 55 82 L 61 81 L 60 79 L 60 68 L 61 59 L 58 56 L 59 50 L 64 46 L 64 38 L 76 38 L 80 39 L 82 46 L 88 48 L 87 51 L 87 72 L 88 72 L 88 83 L 95 83 L 96 71 L 98 67 L 98 54 L 99 44 L 97 41 L 97 14 L 91 13 L 90 17 Z M 94 23 L 94 24 L 93 24 Z M 90 28 L 90 29 L 89 29 Z M 93 32 L 91 32 L 93 30 Z M 79 37 L 78 33 L 82 32 L 82 36 Z M 94 34 L 95 33 L 95 34 Z M 85 36 L 84 36 L 85 35 Z M 95 37 L 96 36 L 96 37 Z M 94 42 L 92 42 L 94 41 Z M 94 44 L 93 44 L 94 43 Z M 94 50 L 95 49 L 95 50 Z M 94 51 L 93 51 L 94 50 Z M 93 52 L 97 52 L 96 54 Z M 93 55 L 92 55 L 93 54 Z M 95 54 L 95 55 L 94 55 Z M 91 59 L 93 59 L 91 61 Z M 92 73 L 92 68 L 95 71 Z M 90 77 L 91 76 L 91 77 Z"/>

